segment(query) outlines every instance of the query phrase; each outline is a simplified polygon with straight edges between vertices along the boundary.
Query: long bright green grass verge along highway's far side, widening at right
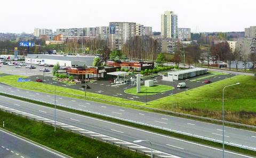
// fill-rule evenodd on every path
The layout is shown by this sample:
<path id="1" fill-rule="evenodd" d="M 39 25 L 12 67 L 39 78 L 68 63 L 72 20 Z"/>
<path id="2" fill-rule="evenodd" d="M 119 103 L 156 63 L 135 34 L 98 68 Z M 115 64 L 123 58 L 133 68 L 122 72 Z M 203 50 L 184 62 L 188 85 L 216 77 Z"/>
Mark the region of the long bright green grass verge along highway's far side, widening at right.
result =
<path id="1" fill-rule="evenodd" d="M 33 91 L 54 93 L 54 86 L 29 82 L 29 83 L 17 83 L 17 78 L 21 76 L 2 76 L 0 77 L 0 82 L 20 87 L 22 89 L 28 89 Z M 222 107 L 222 89 L 225 85 L 234 84 L 236 82 L 241 82 L 240 85 L 228 87 L 225 91 L 225 110 L 226 120 L 240 122 L 243 124 L 256 124 L 256 77 L 255 76 L 243 76 L 238 75 L 225 80 L 197 87 L 196 89 L 191 89 L 178 94 L 166 96 L 164 98 L 148 102 L 147 107 L 158 108 L 163 110 L 185 112 L 192 115 L 211 117 L 216 119 L 221 119 L 221 107 Z M 26 87 L 23 87 L 23 86 Z M 49 92 L 51 90 L 52 92 Z M 56 87 L 57 94 L 62 96 L 69 96 L 78 99 L 84 99 L 84 91 L 68 89 L 66 87 Z M 66 92 L 70 94 L 63 94 L 59 92 Z M 131 103 L 139 106 L 145 106 L 145 103 L 139 101 L 132 101 L 122 98 L 117 98 L 114 96 L 96 94 L 87 92 L 87 96 L 93 98 L 105 99 L 108 101 L 117 101 L 120 103 L 113 103 L 108 101 L 100 101 L 95 99 L 89 99 L 92 101 L 98 101 L 103 103 L 115 104 L 117 106 L 125 106 L 129 108 L 141 109 L 138 107 L 127 106 L 122 103 Z"/>

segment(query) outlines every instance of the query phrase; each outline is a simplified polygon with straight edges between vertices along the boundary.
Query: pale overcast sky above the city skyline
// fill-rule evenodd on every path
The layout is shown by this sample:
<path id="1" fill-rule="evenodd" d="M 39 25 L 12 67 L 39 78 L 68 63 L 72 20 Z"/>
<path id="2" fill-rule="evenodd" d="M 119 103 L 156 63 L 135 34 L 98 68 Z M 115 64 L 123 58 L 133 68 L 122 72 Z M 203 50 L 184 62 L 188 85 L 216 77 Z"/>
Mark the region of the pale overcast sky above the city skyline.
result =
<path id="1" fill-rule="evenodd" d="M 256 25 L 254 0 L 1 0 L 0 32 L 33 33 L 34 28 L 107 26 L 137 22 L 160 31 L 161 14 L 174 11 L 180 28 L 201 32 L 244 31 Z"/>

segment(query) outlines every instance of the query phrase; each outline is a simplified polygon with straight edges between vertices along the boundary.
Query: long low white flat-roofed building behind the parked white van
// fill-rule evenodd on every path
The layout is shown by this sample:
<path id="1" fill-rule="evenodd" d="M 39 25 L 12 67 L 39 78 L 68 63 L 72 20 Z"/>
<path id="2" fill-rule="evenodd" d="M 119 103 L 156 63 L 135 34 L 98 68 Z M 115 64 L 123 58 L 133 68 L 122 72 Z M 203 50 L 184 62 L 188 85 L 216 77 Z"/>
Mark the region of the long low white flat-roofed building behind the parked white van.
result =
<path id="1" fill-rule="evenodd" d="M 185 78 L 207 74 L 207 71 L 207 68 L 191 68 L 168 72 L 168 75 L 163 75 L 163 81 L 184 80 Z"/>

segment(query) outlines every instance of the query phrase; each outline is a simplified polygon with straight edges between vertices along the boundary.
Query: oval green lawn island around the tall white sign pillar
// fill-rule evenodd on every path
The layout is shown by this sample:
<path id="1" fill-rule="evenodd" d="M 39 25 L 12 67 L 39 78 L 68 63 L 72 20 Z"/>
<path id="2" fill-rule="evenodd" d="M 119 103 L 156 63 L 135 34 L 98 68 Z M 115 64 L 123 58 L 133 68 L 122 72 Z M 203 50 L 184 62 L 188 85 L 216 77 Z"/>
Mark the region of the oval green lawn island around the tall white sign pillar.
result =
<path id="1" fill-rule="evenodd" d="M 133 94 L 133 95 L 146 95 L 146 91 L 147 91 L 147 95 L 154 95 L 154 94 L 170 91 L 173 89 L 174 87 L 169 85 L 154 85 L 151 87 L 141 86 L 141 91 L 139 93 L 137 93 L 137 87 L 134 87 L 132 89 L 127 89 L 124 92 L 128 94 Z"/>

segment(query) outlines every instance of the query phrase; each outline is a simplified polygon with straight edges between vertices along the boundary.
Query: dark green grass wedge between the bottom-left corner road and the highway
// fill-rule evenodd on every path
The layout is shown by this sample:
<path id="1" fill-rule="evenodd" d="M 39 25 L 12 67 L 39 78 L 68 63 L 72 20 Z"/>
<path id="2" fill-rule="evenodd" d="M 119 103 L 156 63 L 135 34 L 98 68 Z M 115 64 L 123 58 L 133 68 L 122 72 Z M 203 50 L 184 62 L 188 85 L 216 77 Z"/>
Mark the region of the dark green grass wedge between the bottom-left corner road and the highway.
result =
<path id="1" fill-rule="evenodd" d="M 4 129 L 72 157 L 148 157 L 0 110 Z"/>

